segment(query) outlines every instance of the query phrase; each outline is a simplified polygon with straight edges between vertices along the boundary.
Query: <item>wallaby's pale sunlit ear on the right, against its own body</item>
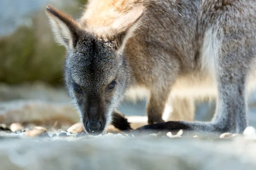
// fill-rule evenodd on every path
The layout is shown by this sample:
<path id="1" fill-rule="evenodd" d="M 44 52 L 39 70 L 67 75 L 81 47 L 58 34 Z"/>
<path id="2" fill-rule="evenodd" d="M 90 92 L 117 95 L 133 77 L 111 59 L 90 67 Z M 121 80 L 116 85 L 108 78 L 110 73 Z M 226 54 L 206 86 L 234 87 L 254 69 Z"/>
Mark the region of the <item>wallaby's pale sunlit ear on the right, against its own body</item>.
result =
<path id="1" fill-rule="evenodd" d="M 132 36 L 144 11 L 144 6 L 137 6 L 113 23 L 112 34 L 118 49 Z"/>

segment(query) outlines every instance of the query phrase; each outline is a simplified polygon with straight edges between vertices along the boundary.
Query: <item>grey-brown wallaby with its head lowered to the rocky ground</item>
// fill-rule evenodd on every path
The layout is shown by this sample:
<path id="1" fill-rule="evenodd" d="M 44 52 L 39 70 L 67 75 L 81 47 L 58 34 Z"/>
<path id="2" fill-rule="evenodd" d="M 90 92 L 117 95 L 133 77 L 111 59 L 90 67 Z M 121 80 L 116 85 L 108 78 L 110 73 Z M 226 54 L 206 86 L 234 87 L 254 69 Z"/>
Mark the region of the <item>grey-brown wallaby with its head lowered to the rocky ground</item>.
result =
<path id="1" fill-rule="evenodd" d="M 256 1 L 90 0 L 78 21 L 51 6 L 47 15 L 67 49 L 65 81 L 87 133 L 102 133 L 122 99 L 142 91 L 149 125 L 134 133 L 247 127 L 247 98 L 256 85 Z M 216 99 L 211 122 L 163 121 L 170 99 L 194 111 L 191 101 L 207 96 Z"/>

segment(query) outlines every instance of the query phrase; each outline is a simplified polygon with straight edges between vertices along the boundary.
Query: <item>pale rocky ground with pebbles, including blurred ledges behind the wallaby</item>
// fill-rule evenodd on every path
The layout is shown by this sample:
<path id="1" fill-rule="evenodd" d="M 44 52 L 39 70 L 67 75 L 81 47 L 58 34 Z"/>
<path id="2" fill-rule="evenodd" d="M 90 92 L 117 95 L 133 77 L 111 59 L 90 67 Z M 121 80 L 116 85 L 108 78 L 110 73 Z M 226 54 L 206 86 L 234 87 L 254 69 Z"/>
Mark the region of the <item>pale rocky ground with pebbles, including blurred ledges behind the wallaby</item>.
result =
<path id="1" fill-rule="evenodd" d="M 255 122 L 254 100 L 250 120 Z M 145 125 L 145 103 L 121 108 L 133 128 Z M 197 108 L 197 119 L 211 107 Z M 137 115 L 137 116 L 131 116 Z M 132 136 L 109 126 L 105 135 L 81 132 L 79 117 L 63 88 L 0 85 L 1 170 L 255 170 L 256 130 L 243 135 L 188 138 L 177 134 Z"/>

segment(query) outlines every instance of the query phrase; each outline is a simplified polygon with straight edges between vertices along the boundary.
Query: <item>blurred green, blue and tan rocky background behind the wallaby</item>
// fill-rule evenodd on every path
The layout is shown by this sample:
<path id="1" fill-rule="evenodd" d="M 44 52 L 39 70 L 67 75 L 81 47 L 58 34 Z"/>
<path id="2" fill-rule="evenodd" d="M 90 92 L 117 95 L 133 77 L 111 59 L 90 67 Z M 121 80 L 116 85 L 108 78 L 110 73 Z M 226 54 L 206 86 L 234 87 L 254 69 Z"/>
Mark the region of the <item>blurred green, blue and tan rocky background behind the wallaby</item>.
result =
<path id="1" fill-rule="evenodd" d="M 47 4 L 78 19 L 86 0 L 0 1 L 0 123 L 51 119 L 64 115 L 79 121 L 63 84 L 64 47 L 52 36 L 44 9 Z M 215 103 L 198 103 L 196 119 L 208 121 Z M 124 102 L 125 115 L 145 115 L 145 101 Z M 53 113 L 54 112 L 54 113 Z M 250 125 L 256 126 L 256 94 L 250 97 Z"/>

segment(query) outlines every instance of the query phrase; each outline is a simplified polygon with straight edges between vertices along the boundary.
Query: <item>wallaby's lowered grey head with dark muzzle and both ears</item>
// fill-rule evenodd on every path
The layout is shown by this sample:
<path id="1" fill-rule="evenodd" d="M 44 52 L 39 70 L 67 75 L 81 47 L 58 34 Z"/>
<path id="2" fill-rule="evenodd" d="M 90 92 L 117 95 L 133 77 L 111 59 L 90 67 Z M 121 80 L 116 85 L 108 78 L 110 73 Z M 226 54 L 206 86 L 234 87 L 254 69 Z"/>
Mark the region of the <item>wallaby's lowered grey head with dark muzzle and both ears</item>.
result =
<path id="1" fill-rule="evenodd" d="M 111 122 L 129 82 L 129 64 L 122 56 L 143 7 L 117 19 L 112 26 L 90 30 L 72 17 L 47 6 L 56 42 L 66 47 L 65 81 L 68 94 L 88 133 L 102 133 Z M 105 34 L 107 33 L 107 34 Z"/>

